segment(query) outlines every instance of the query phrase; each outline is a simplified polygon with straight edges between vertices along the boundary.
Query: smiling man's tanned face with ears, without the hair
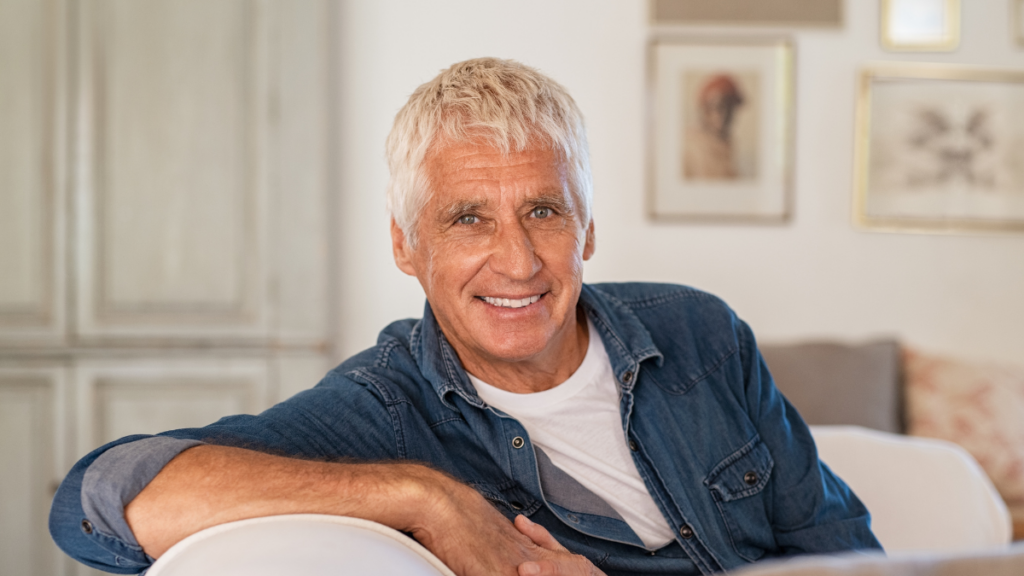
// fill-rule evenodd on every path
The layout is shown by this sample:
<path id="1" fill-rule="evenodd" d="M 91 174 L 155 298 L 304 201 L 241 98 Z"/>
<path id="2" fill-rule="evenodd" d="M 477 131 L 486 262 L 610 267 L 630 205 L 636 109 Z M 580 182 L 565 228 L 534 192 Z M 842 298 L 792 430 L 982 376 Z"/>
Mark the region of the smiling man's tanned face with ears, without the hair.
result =
<path id="1" fill-rule="evenodd" d="M 392 222 L 395 261 L 419 279 L 463 364 L 474 372 L 556 359 L 577 335 L 583 262 L 594 252 L 564 163 L 543 148 L 505 156 L 457 143 L 425 164 L 433 195 L 416 248 Z"/>

